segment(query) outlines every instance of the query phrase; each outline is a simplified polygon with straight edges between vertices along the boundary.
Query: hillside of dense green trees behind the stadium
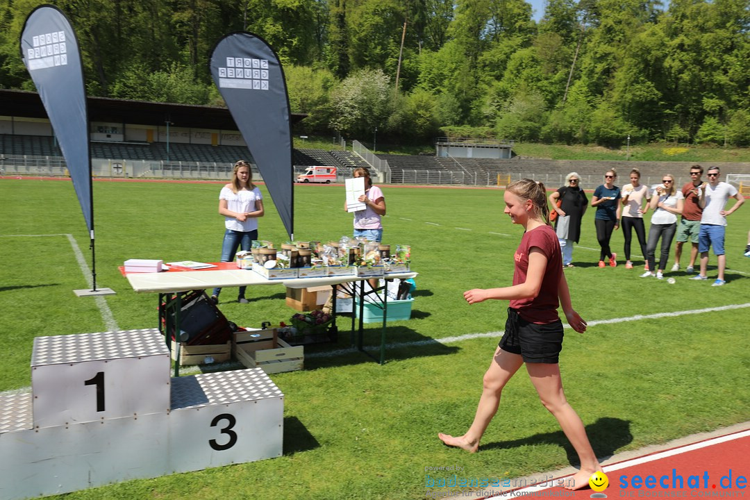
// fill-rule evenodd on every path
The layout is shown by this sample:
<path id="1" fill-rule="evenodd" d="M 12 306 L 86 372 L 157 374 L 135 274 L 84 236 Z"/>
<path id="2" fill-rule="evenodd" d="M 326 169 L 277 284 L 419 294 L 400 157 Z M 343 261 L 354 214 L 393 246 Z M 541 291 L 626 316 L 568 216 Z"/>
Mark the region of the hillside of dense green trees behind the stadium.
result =
<path id="1" fill-rule="evenodd" d="M 300 132 L 750 145 L 748 0 L 59 0 L 90 95 L 222 105 L 214 43 L 278 52 Z M 38 0 L 0 4 L 0 86 Z M 403 40 L 403 44 L 402 44 Z"/>

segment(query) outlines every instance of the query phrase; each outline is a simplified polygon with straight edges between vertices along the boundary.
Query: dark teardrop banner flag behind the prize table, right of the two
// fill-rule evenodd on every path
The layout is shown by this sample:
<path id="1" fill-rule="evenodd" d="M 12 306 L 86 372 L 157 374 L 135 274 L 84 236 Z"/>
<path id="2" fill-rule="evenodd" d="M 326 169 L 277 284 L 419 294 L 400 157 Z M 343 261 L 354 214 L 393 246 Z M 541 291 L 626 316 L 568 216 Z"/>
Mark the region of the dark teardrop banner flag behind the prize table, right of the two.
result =
<path id="1" fill-rule="evenodd" d="M 292 124 L 278 56 L 263 38 L 238 31 L 216 43 L 208 64 L 293 239 Z"/>

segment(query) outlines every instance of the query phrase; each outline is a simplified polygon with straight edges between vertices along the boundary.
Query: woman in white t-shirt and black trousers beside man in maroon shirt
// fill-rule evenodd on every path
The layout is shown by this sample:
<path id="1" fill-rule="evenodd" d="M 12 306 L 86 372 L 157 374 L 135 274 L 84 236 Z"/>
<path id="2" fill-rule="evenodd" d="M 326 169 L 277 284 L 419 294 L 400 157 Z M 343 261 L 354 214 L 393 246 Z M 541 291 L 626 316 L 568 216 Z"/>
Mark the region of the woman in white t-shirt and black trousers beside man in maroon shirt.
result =
<path id="1" fill-rule="evenodd" d="M 655 193 L 651 196 L 650 206 L 654 211 L 651 216 L 651 229 L 649 229 L 649 241 L 646 244 L 646 258 L 649 261 L 649 271 L 641 274 L 640 277 L 654 276 L 653 270 L 656 271 L 656 278 L 661 280 L 664 277 L 664 268 L 669 261 L 669 249 L 672 245 L 672 238 L 677 230 L 677 216 L 682 214 L 684 196 L 682 191 L 674 186 L 674 176 L 671 174 L 664 175 L 661 178 L 661 184 L 656 187 Z M 658 268 L 655 267 L 654 253 L 658 238 L 661 237 L 661 256 L 658 262 Z"/>

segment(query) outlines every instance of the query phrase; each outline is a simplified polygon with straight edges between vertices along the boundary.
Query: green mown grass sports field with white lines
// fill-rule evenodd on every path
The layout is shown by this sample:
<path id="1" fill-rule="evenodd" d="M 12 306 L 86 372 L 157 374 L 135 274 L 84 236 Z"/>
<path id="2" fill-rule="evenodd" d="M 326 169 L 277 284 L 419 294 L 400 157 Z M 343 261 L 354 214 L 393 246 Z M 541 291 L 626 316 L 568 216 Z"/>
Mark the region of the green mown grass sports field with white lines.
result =
<path id="1" fill-rule="evenodd" d="M 156 326 L 156 296 L 130 289 L 117 266 L 130 258 L 215 261 L 223 221 L 220 184 L 96 181 L 98 285 L 120 329 Z M 261 187 L 266 194 L 265 187 Z M 478 454 L 444 447 L 438 432 L 463 433 L 481 377 L 505 322 L 507 304 L 471 307 L 462 293 L 510 283 L 520 238 L 502 214 L 499 190 L 384 188 L 389 215 L 384 242 L 411 244 L 417 291 L 413 319 L 389 323 L 389 363 L 348 347 L 306 349 L 305 370 L 272 376 L 285 394 L 284 456 L 237 466 L 130 481 L 65 496 L 83 499 L 417 499 L 425 467 L 463 467 L 466 477 L 541 475 L 575 463 L 554 418 L 538 403 L 523 370 L 503 393 Z M 344 187 L 296 187 L 298 239 L 350 235 L 341 210 Z M 30 385 L 34 337 L 105 331 L 71 246 L 90 262 L 88 235 L 69 181 L 0 179 L 0 391 Z M 638 269 L 598 268 L 593 211 L 565 271 L 574 307 L 590 324 L 567 329 L 561 355 L 566 394 L 600 457 L 750 420 L 750 259 L 742 256 L 750 208 L 730 217 L 727 286 L 640 279 Z M 260 237 L 286 239 L 270 199 Z M 622 235 L 613 235 L 622 251 Z M 634 258 L 642 262 L 640 256 Z M 712 264 L 715 258 L 712 257 Z M 249 272 L 249 271 L 248 271 Z M 709 269 L 715 277 L 715 269 Z M 239 325 L 288 319 L 284 289 L 248 289 L 238 304 L 231 289 L 221 310 Z M 697 312 L 700 311 L 700 312 Z M 347 325 L 344 319 L 340 325 Z M 472 335 L 477 334 L 477 335 Z M 463 340 L 441 341 L 465 335 Z M 379 341 L 377 325 L 367 341 Z M 421 342 L 419 341 L 429 341 Z"/>

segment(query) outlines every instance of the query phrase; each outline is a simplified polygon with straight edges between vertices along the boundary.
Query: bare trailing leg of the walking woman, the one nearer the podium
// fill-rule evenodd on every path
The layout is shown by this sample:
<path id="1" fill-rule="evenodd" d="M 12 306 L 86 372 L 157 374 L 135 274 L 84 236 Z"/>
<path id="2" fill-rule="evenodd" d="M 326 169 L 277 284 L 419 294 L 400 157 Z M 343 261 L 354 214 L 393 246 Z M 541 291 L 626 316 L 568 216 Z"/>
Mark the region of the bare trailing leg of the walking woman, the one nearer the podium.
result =
<path id="1" fill-rule="evenodd" d="M 443 433 L 438 433 L 437 436 L 446 445 L 457 446 L 470 453 L 477 451 L 481 436 L 487 430 L 487 426 L 497 412 L 502 388 L 505 387 L 505 384 L 508 383 L 508 380 L 518 371 L 522 364 L 523 359 L 520 355 L 503 351 L 498 347 L 493 355 L 490 367 L 484 373 L 484 388 L 481 391 L 481 398 L 479 398 L 474 421 L 469 430 L 463 436 L 454 437 Z"/>

